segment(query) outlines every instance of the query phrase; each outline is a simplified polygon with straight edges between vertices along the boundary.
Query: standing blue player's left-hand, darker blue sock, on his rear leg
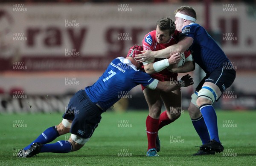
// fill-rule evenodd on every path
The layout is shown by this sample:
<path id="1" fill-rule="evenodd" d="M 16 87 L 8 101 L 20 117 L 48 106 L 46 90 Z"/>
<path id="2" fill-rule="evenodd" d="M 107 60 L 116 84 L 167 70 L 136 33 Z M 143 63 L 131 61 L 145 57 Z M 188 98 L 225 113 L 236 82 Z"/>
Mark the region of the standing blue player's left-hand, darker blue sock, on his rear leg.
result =
<path id="1" fill-rule="evenodd" d="M 201 115 L 201 117 L 197 119 L 191 119 L 193 126 L 195 127 L 195 131 L 198 133 L 199 137 L 201 138 L 201 141 L 203 144 L 208 143 L 210 140 L 209 132 L 207 129 L 207 126 L 204 122 L 204 117 Z"/>

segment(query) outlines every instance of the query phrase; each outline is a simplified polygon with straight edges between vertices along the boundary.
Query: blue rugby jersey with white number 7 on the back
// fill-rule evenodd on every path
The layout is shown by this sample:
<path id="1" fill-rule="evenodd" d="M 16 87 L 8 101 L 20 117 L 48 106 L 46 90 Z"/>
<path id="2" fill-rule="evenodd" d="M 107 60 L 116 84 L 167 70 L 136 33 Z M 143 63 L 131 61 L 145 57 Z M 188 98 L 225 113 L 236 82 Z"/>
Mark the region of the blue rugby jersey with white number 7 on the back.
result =
<path id="1" fill-rule="evenodd" d="M 85 92 L 93 103 L 97 103 L 106 111 L 135 86 L 147 86 L 153 80 L 150 75 L 136 69 L 130 60 L 117 57 L 96 83 L 85 87 Z"/>

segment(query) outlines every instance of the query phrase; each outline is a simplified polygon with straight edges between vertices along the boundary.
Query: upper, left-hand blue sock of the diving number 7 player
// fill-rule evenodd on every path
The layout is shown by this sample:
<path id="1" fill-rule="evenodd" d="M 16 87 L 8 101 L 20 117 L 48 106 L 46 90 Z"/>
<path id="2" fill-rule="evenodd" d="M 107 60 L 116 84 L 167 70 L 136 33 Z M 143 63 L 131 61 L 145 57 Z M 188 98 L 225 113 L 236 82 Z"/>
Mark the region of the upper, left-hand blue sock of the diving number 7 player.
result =
<path id="1" fill-rule="evenodd" d="M 30 143 L 28 146 L 26 146 L 24 148 L 24 150 L 27 150 L 30 148 L 30 146 L 33 144 L 33 143 L 42 143 L 42 144 L 46 144 L 46 143 L 49 143 L 49 142 L 52 142 L 53 140 L 55 140 L 55 138 L 57 138 L 59 135 L 57 129 L 55 126 L 52 126 L 52 127 L 49 127 L 48 129 L 46 129 L 41 135 L 39 135 L 37 137 L 37 139 L 35 139 L 32 143 Z"/>

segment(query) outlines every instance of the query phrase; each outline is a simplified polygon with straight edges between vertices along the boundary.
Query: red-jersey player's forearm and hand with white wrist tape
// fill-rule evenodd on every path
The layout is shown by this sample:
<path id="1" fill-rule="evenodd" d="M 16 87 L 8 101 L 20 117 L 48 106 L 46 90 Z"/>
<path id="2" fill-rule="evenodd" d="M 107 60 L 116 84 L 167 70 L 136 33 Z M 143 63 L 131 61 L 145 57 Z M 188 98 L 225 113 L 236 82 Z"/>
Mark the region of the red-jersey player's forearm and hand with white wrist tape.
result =
<path id="1" fill-rule="evenodd" d="M 163 69 L 166 69 L 170 65 L 174 65 L 179 62 L 181 59 L 178 53 L 173 54 L 168 59 L 160 60 L 154 63 L 143 63 L 145 72 L 148 74 L 154 74 L 161 72 Z"/>

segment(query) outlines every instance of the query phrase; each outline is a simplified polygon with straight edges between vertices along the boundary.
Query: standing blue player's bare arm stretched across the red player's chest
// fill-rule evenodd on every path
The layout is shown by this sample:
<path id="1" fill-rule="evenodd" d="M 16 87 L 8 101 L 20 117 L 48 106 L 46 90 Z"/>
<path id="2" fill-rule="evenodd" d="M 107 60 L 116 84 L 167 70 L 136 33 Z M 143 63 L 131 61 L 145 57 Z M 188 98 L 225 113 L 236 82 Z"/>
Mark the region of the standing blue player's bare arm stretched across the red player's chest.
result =
<path id="1" fill-rule="evenodd" d="M 177 44 L 174 44 L 172 46 L 166 47 L 165 49 L 161 49 L 158 51 L 151 51 L 151 50 L 143 50 L 142 54 L 137 54 L 135 56 L 135 59 L 138 62 L 145 62 L 145 61 L 151 61 L 155 58 L 164 58 L 169 57 L 170 54 L 174 54 L 177 52 L 185 52 L 186 49 L 188 49 L 194 39 L 192 37 L 184 37 L 182 40 L 180 40 Z"/>

